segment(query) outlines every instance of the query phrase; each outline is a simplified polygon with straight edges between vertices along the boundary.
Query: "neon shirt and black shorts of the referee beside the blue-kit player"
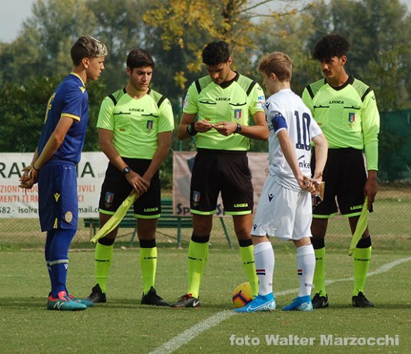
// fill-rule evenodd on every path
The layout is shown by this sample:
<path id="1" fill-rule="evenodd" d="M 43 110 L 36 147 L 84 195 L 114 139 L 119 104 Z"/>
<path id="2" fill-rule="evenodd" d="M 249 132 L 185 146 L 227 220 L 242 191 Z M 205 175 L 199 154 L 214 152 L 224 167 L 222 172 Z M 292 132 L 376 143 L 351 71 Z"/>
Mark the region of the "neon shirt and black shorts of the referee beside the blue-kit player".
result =
<path id="1" fill-rule="evenodd" d="M 157 135 L 174 130 L 174 116 L 170 101 L 149 89 L 142 98 L 135 99 L 125 89 L 107 96 L 101 104 L 98 128 L 113 131 L 113 145 L 130 168 L 142 176 L 157 151 Z M 132 186 L 125 175 L 108 163 L 106 178 L 101 187 L 99 212 L 113 215 Z M 150 188 L 134 204 L 135 217 L 154 219 L 161 211 L 158 172 Z"/>

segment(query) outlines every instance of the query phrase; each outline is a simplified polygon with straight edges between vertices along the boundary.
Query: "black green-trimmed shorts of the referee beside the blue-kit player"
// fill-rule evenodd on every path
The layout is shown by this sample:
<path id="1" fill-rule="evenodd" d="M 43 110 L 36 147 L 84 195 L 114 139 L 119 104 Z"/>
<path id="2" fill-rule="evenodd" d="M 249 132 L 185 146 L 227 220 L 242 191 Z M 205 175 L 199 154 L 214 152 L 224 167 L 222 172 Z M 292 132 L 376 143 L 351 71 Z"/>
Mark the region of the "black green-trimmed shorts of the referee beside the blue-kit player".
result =
<path id="1" fill-rule="evenodd" d="M 151 163 L 151 160 L 146 159 L 128 159 L 123 157 L 123 160 L 130 169 L 140 176 L 144 175 Z M 98 211 L 103 214 L 113 215 L 123 200 L 130 195 L 131 190 L 133 190 L 133 187 L 128 183 L 125 175 L 109 162 L 106 177 L 104 178 L 103 185 L 101 185 Z M 135 201 L 133 208 L 135 217 L 141 219 L 159 218 L 162 205 L 158 171 L 150 182 L 150 188 Z"/>

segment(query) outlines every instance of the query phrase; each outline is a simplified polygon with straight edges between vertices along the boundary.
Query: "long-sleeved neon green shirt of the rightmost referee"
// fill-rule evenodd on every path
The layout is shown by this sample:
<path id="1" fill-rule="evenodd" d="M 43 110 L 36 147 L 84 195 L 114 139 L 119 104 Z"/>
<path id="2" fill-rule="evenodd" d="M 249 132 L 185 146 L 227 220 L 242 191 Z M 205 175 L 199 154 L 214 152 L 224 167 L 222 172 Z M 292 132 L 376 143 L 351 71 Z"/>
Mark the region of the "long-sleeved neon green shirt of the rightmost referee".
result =
<path id="1" fill-rule="evenodd" d="M 333 88 L 321 79 L 304 89 L 303 102 L 313 113 L 330 149 L 364 149 L 367 170 L 378 171 L 380 115 L 376 96 L 366 84 L 349 76 L 344 85 Z"/>

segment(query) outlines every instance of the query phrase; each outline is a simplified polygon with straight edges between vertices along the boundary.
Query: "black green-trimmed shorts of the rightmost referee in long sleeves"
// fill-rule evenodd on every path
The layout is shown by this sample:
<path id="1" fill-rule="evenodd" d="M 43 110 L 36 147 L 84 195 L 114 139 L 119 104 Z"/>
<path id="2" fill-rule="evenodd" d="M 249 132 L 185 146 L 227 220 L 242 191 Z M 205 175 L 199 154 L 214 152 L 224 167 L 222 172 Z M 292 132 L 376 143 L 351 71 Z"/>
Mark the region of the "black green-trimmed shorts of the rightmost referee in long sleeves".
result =
<path id="1" fill-rule="evenodd" d="M 327 218 L 340 212 L 346 217 L 361 214 L 367 174 L 361 150 L 328 149 L 327 163 L 322 174 L 325 181 L 324 200 L 313 210 L 313 217 Z M 311 159 L 315 171 L 315 153 Z"/>

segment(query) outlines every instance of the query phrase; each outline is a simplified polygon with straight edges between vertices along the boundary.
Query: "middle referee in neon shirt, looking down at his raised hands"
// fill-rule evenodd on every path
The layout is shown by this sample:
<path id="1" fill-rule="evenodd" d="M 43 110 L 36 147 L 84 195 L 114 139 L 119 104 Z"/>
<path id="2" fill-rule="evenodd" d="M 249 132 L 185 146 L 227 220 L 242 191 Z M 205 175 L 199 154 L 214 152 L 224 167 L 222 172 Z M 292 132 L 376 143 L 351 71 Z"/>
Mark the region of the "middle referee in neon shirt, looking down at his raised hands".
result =
<path id="1" fill-rule="evenodd" d="M 258 292 L 250 236 L 254 204 L 247 150 L 249 138 L 269 137 L 264 92 L 257 82 L 231 69 L 226 42 L 209 43 L 202 56 L 208 76 L 189 87 L 177 131 L 179 139 L 195 138 L 197 155 L 191 176 L 193 235 L 188 247 L 188 288 L 173 307 L 200 306 L 198 292 L 220 192 L 225 213 L 232 215 L 253 294 Z M 250 125 L 250 116 L 254 125 Z"/>

